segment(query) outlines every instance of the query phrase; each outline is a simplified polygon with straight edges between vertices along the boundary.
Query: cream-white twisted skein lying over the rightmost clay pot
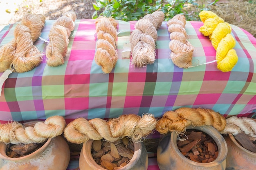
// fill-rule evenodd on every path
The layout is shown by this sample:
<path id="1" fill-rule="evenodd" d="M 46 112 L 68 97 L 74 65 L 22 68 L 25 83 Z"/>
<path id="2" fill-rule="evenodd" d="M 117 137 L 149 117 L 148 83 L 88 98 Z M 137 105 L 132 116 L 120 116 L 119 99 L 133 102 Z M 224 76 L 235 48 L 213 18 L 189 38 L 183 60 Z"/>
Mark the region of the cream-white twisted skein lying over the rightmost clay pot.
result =
<path id="1" fill-rule="evenodd" d="M 232 116 L 226 119 L 227 125 L 222 134 L 238 135 L 240 132 L 245 132 L 250 137 L 256 137 L 256 121 L 248 117 Z"/>

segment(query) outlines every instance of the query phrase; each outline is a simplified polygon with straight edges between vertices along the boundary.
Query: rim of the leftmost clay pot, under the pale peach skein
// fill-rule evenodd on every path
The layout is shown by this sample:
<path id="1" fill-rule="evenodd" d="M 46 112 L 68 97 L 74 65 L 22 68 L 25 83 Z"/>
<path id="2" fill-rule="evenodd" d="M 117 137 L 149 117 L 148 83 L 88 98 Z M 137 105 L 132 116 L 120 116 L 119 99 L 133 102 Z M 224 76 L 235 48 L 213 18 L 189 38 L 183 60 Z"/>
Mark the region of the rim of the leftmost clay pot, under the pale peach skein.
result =
<path id="1" fill-rule="evenodd" d="M 23 124 L 25 126 L 26 125 L 27 126 L 34 126 L 37 122 L 44 122 L 44 121 L 28 121 L 28 122 L 25 122 Z M 26 156 L 23 156 L 23 157 L 18 157 L 18 158 L 8 157 L 6 155 L 6 151 L 5 151 L 6 148 L 7 148 L 7 144 L 4 144 L 4 143 L 0 142 L 0 158 L 4 159 L 6 161 L 23 161 L 24 159 L 29 159 L 30 157 L 34 157 L 35 155 L 40 155 L 45 150 L 45 148 L 47 148 L 49 146 L 51 141 L 52 141 L 52 138 L 47 139 L 45 144 L 43 146 L 41 146 L 40 148 L 38 148 L 38 150 L 30 153 L 29 155 L 26 155 Z M 4 150 L 3 152 L 2 152 L 2 149 Z"/>

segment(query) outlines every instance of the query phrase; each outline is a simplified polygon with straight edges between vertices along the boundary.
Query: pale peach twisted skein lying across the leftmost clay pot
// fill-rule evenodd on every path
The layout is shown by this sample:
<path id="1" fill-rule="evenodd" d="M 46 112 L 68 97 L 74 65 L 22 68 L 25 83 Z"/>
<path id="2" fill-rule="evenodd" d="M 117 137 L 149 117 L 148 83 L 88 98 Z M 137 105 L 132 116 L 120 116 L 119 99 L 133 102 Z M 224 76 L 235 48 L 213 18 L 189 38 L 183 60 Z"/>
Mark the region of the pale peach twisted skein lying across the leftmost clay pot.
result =
<path id="1" fill-rule="evenodd" d="M 44 122 L 37 122 L 34 127 L 25 127 L 16 121 L 0 124 L 0 142 L 5 144 L 42 143 L 48 138 L 61 135 L 65 126 L 65 119 L 61 116 L 49 117 Z"/>

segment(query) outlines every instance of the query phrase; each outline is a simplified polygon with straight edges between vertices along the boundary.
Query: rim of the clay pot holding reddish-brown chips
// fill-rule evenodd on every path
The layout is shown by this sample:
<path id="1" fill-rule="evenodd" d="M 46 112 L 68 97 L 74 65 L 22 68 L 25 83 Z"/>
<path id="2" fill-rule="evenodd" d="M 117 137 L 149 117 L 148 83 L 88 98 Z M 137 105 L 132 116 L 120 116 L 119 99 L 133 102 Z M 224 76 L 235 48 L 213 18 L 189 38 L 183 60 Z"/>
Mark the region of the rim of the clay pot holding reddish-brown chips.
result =
<path id="1" fill-rule="evenodd" d="M 220 132 L 218 132 L 218 130 L 216 130 L 215 128 L 213 128 L 212 126 L 188 126 L 186 127 L 186 129 L 196 129 L 196 130 L 200 130 L 204 133 L 207 133 L 207 135 L 209 135 L 217 144 L 218 146 L 218 156 L 217 158 L 209 163 L 198 163 L 195 161 L 191 161 L 190 159 L 186 158 L 184 155 L 182 155 L 182 153 L 180 152 L 179 148 L 177 147 L 177 133 L 176 132 L 171 132 L 171 144 L 175 147 L 173 147 L 173 149 L 175 150 L 175 152 L 187 163 L 193 164 L 195 166 L 203 166 L 203 167 L 211 167 L 211 166 L 216 166 L 216 164 L 219 164 L 220 162 L 225 161 L 226 157 L 227 157 L 227 143 L 225 141 L 225 139 L 222 137 L 222 135 L 220 134 Z M 213 133 L 215 132 L 215 133 Z M 217 141 L 216 141 L 216 139 Z M 223 147 L 221 146 L 221 144 L 224 144 Z"/>

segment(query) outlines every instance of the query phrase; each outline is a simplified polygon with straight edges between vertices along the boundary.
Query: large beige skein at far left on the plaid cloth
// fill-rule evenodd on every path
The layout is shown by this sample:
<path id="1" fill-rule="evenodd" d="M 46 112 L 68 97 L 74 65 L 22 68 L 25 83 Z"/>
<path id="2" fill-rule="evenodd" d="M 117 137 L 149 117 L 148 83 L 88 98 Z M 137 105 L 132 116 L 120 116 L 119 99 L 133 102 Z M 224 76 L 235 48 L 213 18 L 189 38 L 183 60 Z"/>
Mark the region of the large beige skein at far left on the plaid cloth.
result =
<path id="1" fill-rule="evenodd" d="M 45 26 L 45 16 L 25 15 L 14 29 L 14 39 L 0 49 L 0 72 L 10 68 L 13 72 L 23 73 L 38 66 L 42 54 L 34 46 Z"/>

